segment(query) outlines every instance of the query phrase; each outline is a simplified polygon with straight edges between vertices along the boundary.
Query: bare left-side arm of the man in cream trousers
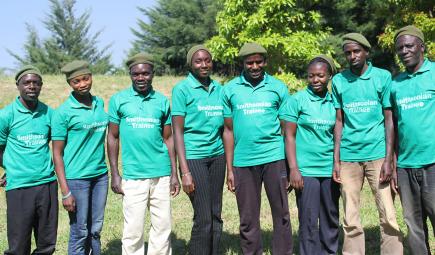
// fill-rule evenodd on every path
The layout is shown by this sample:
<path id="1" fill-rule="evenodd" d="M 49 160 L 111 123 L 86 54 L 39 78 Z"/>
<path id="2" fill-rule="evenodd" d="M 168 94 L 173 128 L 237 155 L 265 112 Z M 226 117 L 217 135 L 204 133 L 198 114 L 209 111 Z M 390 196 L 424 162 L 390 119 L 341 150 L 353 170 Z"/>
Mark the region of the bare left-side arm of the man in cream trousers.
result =
<path id="1" fill-rule="evenodd" d="M 116 194 L 124 195 L 121 187 L 121 176 L 118 170 L 118 155 L 119 155 L 119 125 L 109 122 L 107 132 L 107 155 L 109 157 L 110 173 L 112 175 L 112 191 Z"/>

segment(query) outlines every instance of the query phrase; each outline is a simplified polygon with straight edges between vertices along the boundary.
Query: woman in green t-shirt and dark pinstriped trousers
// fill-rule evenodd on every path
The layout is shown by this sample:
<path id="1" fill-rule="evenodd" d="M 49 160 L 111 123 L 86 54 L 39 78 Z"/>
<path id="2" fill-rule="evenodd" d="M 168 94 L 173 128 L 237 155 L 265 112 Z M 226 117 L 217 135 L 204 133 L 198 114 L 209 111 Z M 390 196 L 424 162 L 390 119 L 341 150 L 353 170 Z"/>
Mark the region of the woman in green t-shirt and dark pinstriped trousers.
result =
<path id="1" fill-rule="evenodd" d="M 210 78 L 210 51 L 187 53 L 190 73 L 172 90 L 172 126 L 183 190 L 193 206 L 189 254 L 219 254 L 225 157 L 222 86 Z"/>

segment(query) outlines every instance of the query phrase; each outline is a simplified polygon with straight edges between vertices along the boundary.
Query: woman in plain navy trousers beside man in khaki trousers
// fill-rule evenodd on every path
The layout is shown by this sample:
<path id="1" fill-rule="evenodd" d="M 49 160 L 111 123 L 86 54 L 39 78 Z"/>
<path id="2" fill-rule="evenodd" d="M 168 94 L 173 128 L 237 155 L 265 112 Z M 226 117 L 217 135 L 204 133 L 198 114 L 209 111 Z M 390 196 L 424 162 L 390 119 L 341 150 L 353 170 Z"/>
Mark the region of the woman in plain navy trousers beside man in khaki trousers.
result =
<path id="1" fill-rule="evenodd" d="M 307 68 L 308 88 L 287 101 L 283 117 L 301 255 L 338 252 L 340 190 L 332 180 L 335 109 L 328 92 L 335 70 L 332 58 L 314 57 Z"/>

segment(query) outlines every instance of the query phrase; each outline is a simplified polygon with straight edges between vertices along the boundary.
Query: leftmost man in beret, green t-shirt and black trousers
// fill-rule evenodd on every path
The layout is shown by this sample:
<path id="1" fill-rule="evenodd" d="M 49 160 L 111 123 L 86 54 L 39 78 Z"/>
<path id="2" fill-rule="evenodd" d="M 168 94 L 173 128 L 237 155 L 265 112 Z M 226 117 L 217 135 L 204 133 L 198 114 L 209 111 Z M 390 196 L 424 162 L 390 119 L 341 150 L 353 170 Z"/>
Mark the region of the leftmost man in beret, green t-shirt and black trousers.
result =
<path id="1" fill-rule="evenodd" d="M 53 254 L 57 235 L 57 182 L 49 142 L 52 109 L 38 100 L 40 71 L 15 76 L 19 96 L 0 110 L 0 166 L 6 171 L 7 236 L 4 254 Z"/>

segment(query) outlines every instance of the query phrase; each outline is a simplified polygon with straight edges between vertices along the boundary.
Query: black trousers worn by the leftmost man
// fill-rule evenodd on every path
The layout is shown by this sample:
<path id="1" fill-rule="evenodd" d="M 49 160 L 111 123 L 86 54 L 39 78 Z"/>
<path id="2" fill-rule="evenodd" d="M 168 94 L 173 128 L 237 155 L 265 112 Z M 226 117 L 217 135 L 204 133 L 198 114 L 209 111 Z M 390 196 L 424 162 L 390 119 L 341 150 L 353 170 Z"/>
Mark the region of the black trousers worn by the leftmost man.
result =
<path id="1" fill-rule="evenodd" d="M 5 255 L 30 254 L 32 229 L 36 249 L 32 254 L 53 254 L 57 238 L 57 182 L 6 192 L 9 249 Z"/>

